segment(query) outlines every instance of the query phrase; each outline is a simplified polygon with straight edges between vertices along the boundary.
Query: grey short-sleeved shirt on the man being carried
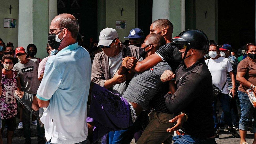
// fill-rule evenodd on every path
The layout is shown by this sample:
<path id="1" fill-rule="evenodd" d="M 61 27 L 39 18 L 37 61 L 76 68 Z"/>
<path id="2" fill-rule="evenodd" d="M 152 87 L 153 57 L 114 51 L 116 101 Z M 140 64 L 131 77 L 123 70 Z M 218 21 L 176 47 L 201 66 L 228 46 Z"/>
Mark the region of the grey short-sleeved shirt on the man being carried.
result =
<path id="1" fill-rule="evenodd" d="M 172 68 L 167 62 L 160 62 L 145 72 L 135 73 L 123 97 L 129 102 L 141 105 L 145 110 L 150 110 L 149 103 L 161 90 L 163 82 L 160 77 L 166 70 L 172 71 Z"/>

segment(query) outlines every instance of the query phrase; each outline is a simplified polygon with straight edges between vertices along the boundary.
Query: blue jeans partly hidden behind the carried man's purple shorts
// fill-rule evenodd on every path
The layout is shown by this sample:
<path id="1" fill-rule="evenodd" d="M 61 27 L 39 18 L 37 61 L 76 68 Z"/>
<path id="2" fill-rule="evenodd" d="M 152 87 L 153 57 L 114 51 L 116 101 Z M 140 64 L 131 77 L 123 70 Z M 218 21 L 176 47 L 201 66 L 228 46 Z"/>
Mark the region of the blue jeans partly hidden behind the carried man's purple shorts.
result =
<path id="1" fill-rule="evenodd" d="M 141 129 L 143 118 L 147 116 L 147 111 L 142 111 L 138 117 L 138 119 L 126 129 L 120 131 L 111 131 L 109 132 L 109 143 L 122 143 L 122 144 L 129 144 L 134 137 L 135 132 Z"/>

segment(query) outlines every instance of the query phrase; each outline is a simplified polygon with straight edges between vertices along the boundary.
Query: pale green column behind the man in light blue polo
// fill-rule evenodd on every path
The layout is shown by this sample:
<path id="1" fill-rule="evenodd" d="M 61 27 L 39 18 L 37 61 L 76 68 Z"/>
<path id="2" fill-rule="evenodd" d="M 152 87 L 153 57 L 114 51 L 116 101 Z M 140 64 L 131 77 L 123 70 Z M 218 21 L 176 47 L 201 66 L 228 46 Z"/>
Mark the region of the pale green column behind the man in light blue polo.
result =
<path id="1" fill-rule="evenodd" d="M 23 46 L 26 49 L 29 44 L 35 44 L 37 47 L 36 57 L 47 57 L 47 34 L 51 20 L 56 15 L 57 1 L 20 0 L 18 46 Z"/>

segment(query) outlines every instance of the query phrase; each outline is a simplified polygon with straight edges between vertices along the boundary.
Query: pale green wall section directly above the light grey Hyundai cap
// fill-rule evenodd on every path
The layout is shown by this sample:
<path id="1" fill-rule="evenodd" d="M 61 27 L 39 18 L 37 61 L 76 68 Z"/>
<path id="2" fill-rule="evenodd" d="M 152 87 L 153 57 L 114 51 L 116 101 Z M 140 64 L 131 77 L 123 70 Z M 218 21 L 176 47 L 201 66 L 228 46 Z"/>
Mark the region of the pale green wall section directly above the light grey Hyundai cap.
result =
<path id="1" fill-rule="evenodd" d="M 121 16 L 121 9 L 123 16 Z M 106 27 L 116 29 L 117 20 L 126 20 L 126 29 L 116 29 L 119 39 L 124 42 L 135 27 L 135 0 L 106 0 Z M 98 34 L 99 35 L 99 34 Z"/>

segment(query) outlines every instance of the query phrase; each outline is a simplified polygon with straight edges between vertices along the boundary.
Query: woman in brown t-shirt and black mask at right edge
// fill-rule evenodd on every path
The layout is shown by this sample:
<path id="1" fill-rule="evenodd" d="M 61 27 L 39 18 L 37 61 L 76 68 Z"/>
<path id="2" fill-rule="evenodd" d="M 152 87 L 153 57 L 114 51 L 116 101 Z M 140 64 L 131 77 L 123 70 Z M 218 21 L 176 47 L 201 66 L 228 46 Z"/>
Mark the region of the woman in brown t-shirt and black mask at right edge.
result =
<path id="1" fill-rule="evenodd" d="M 241 119 L 239 121 L 240 143 L 246 143 L 246 133 L 250 125 L 250 121 L 254 118 L 252 133 L 254 133 L 254 141 L 256 143 L 256 110 L 251 104 L 247 89 L 251 88 L 256 92 L 256 44 L 246 44 L 247 58 L 242 60 L 237 67 L 236 79 L 240 82 L 238 88 L 238 97 L 241 104 Z"/>

